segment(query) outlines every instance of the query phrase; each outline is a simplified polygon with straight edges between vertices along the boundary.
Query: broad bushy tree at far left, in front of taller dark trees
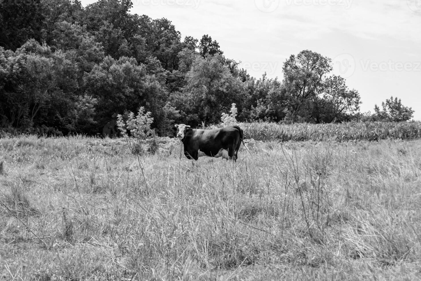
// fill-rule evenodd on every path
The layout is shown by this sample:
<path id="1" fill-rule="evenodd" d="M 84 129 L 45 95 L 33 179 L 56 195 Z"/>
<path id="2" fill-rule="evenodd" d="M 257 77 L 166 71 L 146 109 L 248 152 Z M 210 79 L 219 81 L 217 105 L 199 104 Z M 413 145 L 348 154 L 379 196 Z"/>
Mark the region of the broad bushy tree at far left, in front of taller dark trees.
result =
<path id="1" fill-rule="evenodd" d="M 75 131 L 82 99 L 77 67 L 61 52 L 29 40 L 16 52 L 1 51 L 0 116 L 3 126 L 25 131 Z M 83 111 L 86 114 L 86 110 Z"/>

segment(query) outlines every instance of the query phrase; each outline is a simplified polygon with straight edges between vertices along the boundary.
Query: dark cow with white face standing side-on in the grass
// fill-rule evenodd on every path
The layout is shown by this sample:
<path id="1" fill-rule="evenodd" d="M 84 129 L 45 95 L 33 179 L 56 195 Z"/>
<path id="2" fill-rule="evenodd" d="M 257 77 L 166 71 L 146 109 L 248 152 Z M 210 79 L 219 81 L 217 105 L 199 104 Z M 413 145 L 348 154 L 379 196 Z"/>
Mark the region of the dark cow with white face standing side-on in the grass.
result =
<path id="1" fill-rule="evenodd" d="M 237 161 L 237 153 L 243 137 L 243 131 L 239 126 L 212 130 L 192 129 L 185 124 L 175 125 L 175 127 L 177 138 L 183 143 L 184 155 L 188 159 L 197 161 L 201 156 L 209 156 Z"/>

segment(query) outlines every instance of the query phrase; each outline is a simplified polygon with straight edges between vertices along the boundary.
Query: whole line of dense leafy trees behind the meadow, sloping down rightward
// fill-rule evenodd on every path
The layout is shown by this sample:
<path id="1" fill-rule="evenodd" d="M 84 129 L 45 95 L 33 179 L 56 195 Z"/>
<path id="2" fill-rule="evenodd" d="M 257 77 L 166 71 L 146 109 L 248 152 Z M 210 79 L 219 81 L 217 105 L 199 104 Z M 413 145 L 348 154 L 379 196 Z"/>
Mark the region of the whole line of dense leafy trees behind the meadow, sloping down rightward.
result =
<path id="1" fill-rule="evenodd" d="M 117 114 L 144 107 L 165 135 L 173 123 L 216 123 L 232 103 L 239 121 L 368 118 L 357 113 L 358 91 L 330 75 L 328 57 L 301 51 L 284 62 L 282 81 L 253 78 L 210 36 L 181 38 L 168 19 L 133 15 L 132 6 L 2 1 L 1 128 L 91 135 Z"/>

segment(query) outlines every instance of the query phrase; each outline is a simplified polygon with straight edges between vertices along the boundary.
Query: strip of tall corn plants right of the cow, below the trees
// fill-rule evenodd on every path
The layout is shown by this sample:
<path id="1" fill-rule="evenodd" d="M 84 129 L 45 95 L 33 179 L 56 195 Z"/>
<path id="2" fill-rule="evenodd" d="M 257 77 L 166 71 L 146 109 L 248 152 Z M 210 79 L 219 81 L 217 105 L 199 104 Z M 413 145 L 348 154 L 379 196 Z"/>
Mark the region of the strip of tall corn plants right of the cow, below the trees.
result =
<path id="1" fill-rule="evenodd" d="M 245 139 L 261 141 L 377 141 L 379 139 L 421 138 L 421 123 L 350 122 L 330 124 L 278 124 L 267 122 L 240 123 Z"/>

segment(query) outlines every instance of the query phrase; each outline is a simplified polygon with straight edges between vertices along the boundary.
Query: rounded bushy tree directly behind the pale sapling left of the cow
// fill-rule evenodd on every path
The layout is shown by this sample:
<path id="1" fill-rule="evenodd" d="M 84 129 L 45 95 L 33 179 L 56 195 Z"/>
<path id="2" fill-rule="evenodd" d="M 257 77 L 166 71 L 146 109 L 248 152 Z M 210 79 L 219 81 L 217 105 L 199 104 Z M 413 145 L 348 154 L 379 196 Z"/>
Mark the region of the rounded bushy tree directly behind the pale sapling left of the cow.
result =
<path id="1" fill-rule="evenodd" d="M 167 102 L 165 75 L 160 76 L 163 72 L 160 63 L 155 59 L 150 61 L 146 65 L 138 64 L 134 58 L 115 60 L 107 56 L 85 75 L 85 94 L 97 99 L 98 123 L 105 124 L 125 110 L 136 112 L 139 107 L 152 112 L 154 126 L 159 130 L 167 126 L 168 118 L 176 117 L 176 110 Z"/>

